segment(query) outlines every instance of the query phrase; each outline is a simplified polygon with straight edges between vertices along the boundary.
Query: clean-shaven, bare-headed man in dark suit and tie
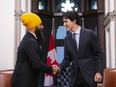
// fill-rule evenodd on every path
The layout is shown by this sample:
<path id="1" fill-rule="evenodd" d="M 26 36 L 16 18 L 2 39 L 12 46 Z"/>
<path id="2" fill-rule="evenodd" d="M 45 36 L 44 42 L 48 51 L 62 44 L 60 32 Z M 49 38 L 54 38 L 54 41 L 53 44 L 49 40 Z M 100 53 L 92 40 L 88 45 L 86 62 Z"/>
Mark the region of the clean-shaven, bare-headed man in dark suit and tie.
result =
<path id="1" fill-rule="evenodd" d="M 65 37 L 65 54 L 61 70 L 71 62 L 71 87 L 97 87 L 102 80 L 104 54 L 94 31 L 80 26 L 77 12 L 63 14 L 64 26 L 70 30 Z"/>

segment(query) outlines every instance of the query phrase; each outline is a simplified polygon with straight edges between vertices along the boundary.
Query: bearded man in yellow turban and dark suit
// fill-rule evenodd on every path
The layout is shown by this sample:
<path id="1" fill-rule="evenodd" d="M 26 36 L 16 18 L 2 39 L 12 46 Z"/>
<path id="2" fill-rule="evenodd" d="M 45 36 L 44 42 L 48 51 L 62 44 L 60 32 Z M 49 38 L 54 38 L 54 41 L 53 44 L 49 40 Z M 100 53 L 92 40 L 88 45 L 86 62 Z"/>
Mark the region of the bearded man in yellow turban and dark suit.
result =
<path id="1" fill-rule="evenodd" d="M 19 44 L 17 61 L 11 79 L 11 87 L 38 87 L 40 71 L 56 73 L 58 67 L 47 66 L 41 61 L 41 49 L 36 33 L 43 28 L 40 17 L 34 13 L 24 13 L 21 21 L 27 33 Z"/>

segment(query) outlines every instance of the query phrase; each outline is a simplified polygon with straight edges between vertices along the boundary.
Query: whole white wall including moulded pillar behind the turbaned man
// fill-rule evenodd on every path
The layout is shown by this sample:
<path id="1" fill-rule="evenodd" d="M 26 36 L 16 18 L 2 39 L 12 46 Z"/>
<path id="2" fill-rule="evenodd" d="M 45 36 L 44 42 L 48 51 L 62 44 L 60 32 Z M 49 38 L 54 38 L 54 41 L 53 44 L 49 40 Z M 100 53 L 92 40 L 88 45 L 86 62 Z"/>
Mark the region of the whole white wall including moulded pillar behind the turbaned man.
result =
<path id="1" fill-rule="evenodd" d="M 31 0 L 2 0 L 0 3 L 0 70 L 13 69 L 17 47 L 26 29 L 19 18 L 31 11 Z"/>

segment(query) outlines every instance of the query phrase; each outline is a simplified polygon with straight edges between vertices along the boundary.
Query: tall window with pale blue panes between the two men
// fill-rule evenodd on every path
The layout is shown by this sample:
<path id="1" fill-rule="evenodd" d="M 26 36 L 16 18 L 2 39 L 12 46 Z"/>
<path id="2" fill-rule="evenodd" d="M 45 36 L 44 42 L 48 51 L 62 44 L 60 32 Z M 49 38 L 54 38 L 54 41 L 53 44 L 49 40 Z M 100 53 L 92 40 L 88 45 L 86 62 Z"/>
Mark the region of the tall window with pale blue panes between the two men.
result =
<path id="1" fill-rule="evenodd" d="M 64 38 L 67 35 L 66 27 L 63 26 L 62 18 L 55 18 L 55 45 L 58 63 L 64 58 Z"/>

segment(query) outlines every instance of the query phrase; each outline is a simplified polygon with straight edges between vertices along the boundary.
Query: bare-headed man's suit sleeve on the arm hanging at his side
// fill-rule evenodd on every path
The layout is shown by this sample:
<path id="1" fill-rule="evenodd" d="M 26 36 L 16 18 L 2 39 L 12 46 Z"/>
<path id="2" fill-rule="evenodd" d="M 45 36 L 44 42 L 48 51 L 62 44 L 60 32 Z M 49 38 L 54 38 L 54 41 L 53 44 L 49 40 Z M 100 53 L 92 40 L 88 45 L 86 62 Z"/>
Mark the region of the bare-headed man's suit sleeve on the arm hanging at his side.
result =
<path id="1" fill-rule="evenodd" d="M 91 46 L 92 50 L 95 55 L 95 60 L 96 60 L 96 72 L 99 72 L 103 74 L 103 67 L 104 67 L 104 54 L 102 52 L 102 49 L 100 47 L 100 44 L 97 40 L 97 36 L 95 35 L 94 31 L 91 31 Z"/>

